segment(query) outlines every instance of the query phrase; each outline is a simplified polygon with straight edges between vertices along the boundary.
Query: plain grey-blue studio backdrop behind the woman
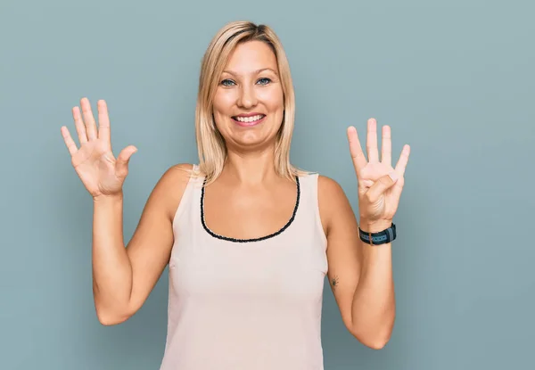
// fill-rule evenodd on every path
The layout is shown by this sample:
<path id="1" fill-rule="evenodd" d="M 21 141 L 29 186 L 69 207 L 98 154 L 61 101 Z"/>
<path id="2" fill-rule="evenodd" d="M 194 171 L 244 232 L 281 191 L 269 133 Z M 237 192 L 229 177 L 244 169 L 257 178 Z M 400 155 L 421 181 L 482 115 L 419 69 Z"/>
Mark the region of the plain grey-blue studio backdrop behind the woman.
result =
<path id="1" fill-rule="evenodd" d="M 297 99 L 292 161 L 338 181 L 355 212 L 346 127 L 364 137 L 370 117 L 391 125 L 393 160 L 412 147 L 394 221 L 391 341 L 376 351 L 350 336 L 325 281 L 325 369 L 534 366 L 533 12 L 527 0 L 3 0 L 0 368 L 160 366 L 168 271 L 135 317 L 98 323 L 92 201 L 60 127 L 76 137 L 71 108 L 105 99 L 116 155 L 137 146 L 128 242 L 162 173 L 197 162 L 202 53 L 235 20 L 281 37 Z"/>

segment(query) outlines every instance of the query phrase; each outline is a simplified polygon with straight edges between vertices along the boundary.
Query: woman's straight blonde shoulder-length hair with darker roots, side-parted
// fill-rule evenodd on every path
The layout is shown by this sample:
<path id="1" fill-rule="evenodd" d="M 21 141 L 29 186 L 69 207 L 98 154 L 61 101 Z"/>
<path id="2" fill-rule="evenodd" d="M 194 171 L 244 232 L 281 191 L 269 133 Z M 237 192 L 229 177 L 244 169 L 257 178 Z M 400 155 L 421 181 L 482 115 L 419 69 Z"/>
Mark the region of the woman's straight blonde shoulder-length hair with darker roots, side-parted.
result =
<path id="1" fill-rule="evenodd" d="M 273 29 L 266 25 L 256 25 L 250 21 L 234 21 L 219 29 L 212 38 L 202 58 L 199 92 L 195 109 L 195 136 L 199 152 L 199 168 L 193 176 L 206 177 L 206 185 L 214 181 L 223 170 L 226 161 L 226 144 L 213 119 L 213 99 L 218 80 L 226 62 L 237 45 L 248 41 L 262 41 L 268 44 L 276 55 L 277 67 L 284 94 L 284 119 L 276 136 L 276 173 L 295 181 L 295 176 L 304 173 L 290 163 L 295 97 L 283 45 Z"/>

